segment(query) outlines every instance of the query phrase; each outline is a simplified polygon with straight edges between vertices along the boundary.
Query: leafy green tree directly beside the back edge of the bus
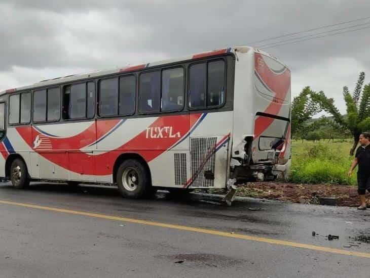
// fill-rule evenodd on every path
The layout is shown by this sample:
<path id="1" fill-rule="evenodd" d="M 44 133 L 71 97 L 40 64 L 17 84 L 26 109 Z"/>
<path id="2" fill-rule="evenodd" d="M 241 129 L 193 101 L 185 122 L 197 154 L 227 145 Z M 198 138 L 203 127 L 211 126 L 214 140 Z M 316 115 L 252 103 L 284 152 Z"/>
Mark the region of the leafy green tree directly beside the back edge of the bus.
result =
<path id="1" fill-rule="evenodd" d="M 313 115 L 320 112 L 320 106 L 311 100 L 313 91 L 309 86 L 305 87 L 299 96 L 295 97 L 291 104 L 291 134 L 293 137 L 307 135 L 303 125 Z"/>

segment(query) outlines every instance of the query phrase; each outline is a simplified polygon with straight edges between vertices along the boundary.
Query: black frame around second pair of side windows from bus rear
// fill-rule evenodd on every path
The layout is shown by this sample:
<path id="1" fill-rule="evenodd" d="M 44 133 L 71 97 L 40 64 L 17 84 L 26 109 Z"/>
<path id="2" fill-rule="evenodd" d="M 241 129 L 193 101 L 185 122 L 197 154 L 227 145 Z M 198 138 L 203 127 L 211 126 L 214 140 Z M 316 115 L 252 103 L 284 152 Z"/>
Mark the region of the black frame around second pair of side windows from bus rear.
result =
<path id="1" fill-rule="evenodd" d="M 164 70 L 170 70 L 170 69 L 176 69 L 176 68 L 182 68 L 182 71 L 183 71 L 183 89 L 182 89 L 182 107 L 181 109 L 174 109 L 174 110 L 168 110 L 168 111 L 162 111 L 161 110 L 161 101 L 162 101 L 162 72 Z M 185 95 L 185 91 L 186 91 L 186 85 L 187 85 L 187 69 L 186 69 L 186 66 L 184 66 L 184 64 L 177 64 L 177 65 L 171 65 L 171 66 L 167 66 L 167 67 L 159 67 L 159 68 L 155 68 L 155 69 L 149 69 L 149 70 L 144 70 L 144 71 L 140 71 L 139 72 L 139 76 L 137 78 L 137 99 L 139 100 L 139 86 L 140 86 L 140 76 L 141 74 L 143 73 L 149 73 L 149 72 L 154 72 L 154 71 L 160 71 L 161 73 L 161 80 L 160 80 L 160 96 L 159 96 L 159 111 L 155 111 L 155 112 L 140 112 L 139 111 L 139 102 L 137 102 L 137 114 L 138 115 L 153 115 L 153 114 L 167 114 L 167 113 L 174 113 L 174 112 L 181 112 L 183 111 L 184 107 L 185 107 L 185 102 L 187 101 L 186 100 L 186 95 Z"/>

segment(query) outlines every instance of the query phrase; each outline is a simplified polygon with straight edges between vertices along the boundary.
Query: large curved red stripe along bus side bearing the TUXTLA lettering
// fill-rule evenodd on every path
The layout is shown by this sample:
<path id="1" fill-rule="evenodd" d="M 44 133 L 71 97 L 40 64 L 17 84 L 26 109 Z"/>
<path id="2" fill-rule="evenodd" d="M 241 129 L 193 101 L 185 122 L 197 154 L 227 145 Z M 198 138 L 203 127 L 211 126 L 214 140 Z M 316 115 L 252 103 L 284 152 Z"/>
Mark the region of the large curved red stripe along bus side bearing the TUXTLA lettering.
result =
<path id="1" fill-rule="evenodd" d="M 198 118 L 201 117 L 201 115 L 202 114 L 197 114 Z M 172 129 L 169 127 L 172 127 Z M 112 151 L 93 156 L 80 150 L 72 150 L 70 155 L 73 157 L 74 161 L 91 161 L 91 159 L 94 159 L 95 163 L 86 163 L 83 166 L 76 163 L 69 163 L 68 158 L 63 158 L 62 156 L 65 154 L 62 154 L 60 151 L 43 152 L 38 149 L 34 149 L 34 151 L 58 166 L 72 172 L 87 175 L 109 175 L 112 174 L 114 162 L 121 154 L 137 153 L 141 155 L 146 162 L 150 162 L 181 140 L 182 136 L 185 136 L 192 127 L 193 125 L 189 124 L 188 115 L 159 117 L 137 136 Z M 159 130 L 158 128 L 162 128 L 162 130 Z M 17 128 L 17 130 L 23 138 L 26 138 L 27 132 L 30 132 L 30 128 L 27 130 L 26 128 L 21 127 Z M 75 142 L 65 143 L 66 146 L 76 146 Z M 27 142 L 27 144 L 32 148 L 32 144 L 29 144 L 29 142 Z M 82 145 L 85 144 L 86 143 Z M 55 150 L 54 146 L 53 150 Z M 65 148 L 64 150 L 68 150 L 68 148 Z M 79 166 L 80 169 L 83 168 L 83 173 L 80 169 L 76 169 L 77 166 Z"/>

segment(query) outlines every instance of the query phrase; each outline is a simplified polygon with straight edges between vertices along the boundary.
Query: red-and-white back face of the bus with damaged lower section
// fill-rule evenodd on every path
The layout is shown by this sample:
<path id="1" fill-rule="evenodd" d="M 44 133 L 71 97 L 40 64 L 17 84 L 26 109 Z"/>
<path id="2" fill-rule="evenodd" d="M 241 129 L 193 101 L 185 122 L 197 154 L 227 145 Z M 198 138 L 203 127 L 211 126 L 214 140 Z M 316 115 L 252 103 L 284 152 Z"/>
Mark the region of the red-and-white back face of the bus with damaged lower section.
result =
<path id="1" fill-rule="evenodd" d="M 290 71 L 274 59 L 254 54 L 254 141 L 252 160 L 254 163 L 271 159 L 267 142 L 271 150 L 283 142 L 281 162 L 286 162 L 290 150 Z M 262 113 L 262 115 L 257 115 Z M 285 120 L 284 120 L 285 119 Z M 280 146 L 281 147 L 281 146 Z"/>

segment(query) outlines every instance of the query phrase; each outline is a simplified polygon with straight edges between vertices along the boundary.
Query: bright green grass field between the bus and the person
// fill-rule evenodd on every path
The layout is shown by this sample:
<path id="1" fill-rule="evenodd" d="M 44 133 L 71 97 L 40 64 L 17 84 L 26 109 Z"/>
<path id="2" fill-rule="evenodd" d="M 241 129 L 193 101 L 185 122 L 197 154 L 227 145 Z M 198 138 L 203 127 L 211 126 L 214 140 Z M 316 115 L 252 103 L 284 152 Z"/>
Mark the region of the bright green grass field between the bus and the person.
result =
<path id="1" fill-rule="evenodd" d="M 352 141 L 335 140 L 292 142 L 289 180 L 298 183 L 356 184 L 356 171 L 347 176 L 353 157 L 349 156 Z"/>

